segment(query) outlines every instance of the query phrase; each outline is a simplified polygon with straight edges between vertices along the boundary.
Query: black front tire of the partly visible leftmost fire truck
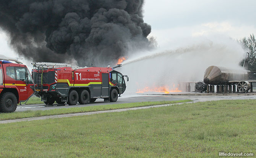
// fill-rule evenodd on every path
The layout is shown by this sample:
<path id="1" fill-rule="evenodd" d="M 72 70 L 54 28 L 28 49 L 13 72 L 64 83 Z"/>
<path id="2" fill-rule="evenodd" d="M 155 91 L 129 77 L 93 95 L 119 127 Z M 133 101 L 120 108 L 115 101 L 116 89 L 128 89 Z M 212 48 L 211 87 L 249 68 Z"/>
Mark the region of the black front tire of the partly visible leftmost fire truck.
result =
<path id="1" fill-rule="evenodd" d="M 2 94 L 0 98 L 0 112 L 15 112 L 17 108 L 17 97 L 11 92 L 6 92 Z"/>

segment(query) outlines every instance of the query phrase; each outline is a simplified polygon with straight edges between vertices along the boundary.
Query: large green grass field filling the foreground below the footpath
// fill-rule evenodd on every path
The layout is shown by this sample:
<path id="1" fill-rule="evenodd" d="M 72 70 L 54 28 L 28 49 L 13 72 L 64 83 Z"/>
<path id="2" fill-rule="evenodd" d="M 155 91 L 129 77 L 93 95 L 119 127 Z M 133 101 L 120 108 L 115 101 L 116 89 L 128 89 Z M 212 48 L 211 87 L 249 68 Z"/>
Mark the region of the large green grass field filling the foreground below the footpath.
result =
<path id="1" fill-rule="evenodd" d="M 255 155 L 255 102 L 199 102 L 0 124 L 0 157 L 218 158 L 218 152 Z"/>

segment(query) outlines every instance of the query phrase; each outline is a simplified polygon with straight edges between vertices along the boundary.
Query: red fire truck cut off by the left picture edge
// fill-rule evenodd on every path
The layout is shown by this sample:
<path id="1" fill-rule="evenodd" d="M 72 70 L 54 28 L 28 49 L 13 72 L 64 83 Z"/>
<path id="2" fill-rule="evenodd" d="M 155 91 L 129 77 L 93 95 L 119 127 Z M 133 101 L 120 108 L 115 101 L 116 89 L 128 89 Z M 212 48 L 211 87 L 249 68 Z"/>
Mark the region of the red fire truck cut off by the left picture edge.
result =
<path id="1" fill-rule="evenodd" d="M 0 112 L 14 112 L 19 102 L 27 101 L 34 93 L 29 70 L 18 59 L 0 55 Z"/>

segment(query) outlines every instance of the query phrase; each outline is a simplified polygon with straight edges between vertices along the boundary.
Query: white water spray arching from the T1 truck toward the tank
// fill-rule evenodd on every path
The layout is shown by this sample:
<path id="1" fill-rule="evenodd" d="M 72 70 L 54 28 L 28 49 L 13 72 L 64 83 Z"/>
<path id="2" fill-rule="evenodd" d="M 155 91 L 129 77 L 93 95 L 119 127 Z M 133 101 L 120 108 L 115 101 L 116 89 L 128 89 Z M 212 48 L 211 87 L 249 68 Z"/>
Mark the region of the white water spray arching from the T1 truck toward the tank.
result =
<path id="1" fill-rule="evenodd" d="M 237 41 L 214 38 L 173 50 L 146 53 L 137 53 L 123 62 L 121 72 L 130 78 L 125 94 L 135 94 L 145 87 L 164 86 L 172 90 L 184 81 L 201 81 L 210 65 L 237 69 L 244 51 Z"/>

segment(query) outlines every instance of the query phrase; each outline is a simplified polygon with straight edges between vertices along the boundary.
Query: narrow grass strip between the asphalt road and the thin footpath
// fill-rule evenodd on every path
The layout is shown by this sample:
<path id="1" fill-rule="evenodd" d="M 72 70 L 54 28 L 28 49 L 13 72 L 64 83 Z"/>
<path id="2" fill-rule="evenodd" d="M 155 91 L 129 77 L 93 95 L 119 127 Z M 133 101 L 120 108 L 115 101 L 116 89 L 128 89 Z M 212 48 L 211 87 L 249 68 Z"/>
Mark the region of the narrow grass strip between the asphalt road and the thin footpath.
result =
<path id="1" fill-rule="evenodd" d="M 96 112 L 96 111 L 113 110 L 113 109 L 125 109 L 125 108 L 132 108 L 132 107 L 175 104 L 175 103 L 190 102 L 190 101 L 191 100 L 136 102 L 136 103 L 125 103 L 125 104 L 94 105 L 94 106 L 87 106 L 87 107 L 62 108 L 62 109 L 52 109 L 52 110 L 36 110 L 36 111 L 27 110 L 24 112 L 0 113 L 0 120 L 13 120 L 18 118 L 62 115 L 62 114 L 68 114 L 68 113 Z"/>

